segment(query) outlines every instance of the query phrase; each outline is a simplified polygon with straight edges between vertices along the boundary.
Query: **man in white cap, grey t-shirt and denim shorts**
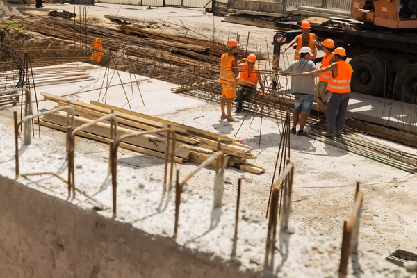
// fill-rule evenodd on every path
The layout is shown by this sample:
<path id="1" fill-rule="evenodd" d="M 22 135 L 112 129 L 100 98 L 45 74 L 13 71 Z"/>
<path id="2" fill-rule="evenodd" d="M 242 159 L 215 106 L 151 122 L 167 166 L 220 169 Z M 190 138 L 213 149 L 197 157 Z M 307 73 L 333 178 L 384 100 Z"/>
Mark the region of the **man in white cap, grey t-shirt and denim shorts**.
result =
<path id="1" fill-rule="evenodd" d="M 291 94 L 293 94 L 295 98 L 291 133 L 297 133 L 296 127 L 298 116 L 301 111 L 300 130 L 297 133 L 298 136 L 304 134 L 304 125 L 307 122 L 307 116 L 310 113 L 311 105 L 313 104 L 316 95 L 313 76 L 310 76 L 309 79 L 302 77 L 302 73 L 304 72 L 317 70 L 316 65 L 311 61 L 311 56 L 313 56 L 311 49 L 309 47 L 302 47 L 300 49 L 300 60 L 295 60 L 290 64 L 288 69 L 284 70 L 284 72 L 298 74 L 298 76 L 291 76 Z"/>

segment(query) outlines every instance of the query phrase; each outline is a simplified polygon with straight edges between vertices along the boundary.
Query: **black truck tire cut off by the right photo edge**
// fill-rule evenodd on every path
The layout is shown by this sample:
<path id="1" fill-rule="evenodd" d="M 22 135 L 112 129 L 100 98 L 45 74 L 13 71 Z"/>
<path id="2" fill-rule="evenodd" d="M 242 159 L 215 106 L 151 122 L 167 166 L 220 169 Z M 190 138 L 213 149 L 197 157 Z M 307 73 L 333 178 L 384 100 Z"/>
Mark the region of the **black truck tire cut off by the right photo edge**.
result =
<path id="1" fill-rule="evenodd" d="M 403 67 L 397 74 L 395 85 L 395 99 L 409 102 L 417 99 L 417 64 Z"/>

